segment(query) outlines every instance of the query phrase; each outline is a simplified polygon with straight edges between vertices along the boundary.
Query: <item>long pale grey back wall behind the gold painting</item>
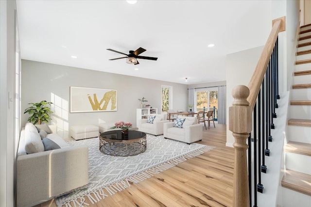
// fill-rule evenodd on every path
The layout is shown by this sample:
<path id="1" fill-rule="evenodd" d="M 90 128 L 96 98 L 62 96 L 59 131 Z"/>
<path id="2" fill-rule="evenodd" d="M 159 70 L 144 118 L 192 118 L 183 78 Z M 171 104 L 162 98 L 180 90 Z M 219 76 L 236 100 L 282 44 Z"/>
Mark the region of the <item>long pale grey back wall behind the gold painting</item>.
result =
<path id="1" fill-rule="evenodd" d="M 67 116 L 59 114 L 58 125 L 64 123 L 67 129 L 73 125 L 96 125 L 102 121 L 128 121 L 136 125 L 136 109 L 140 108 L 138 98 L 145 97 L 153 108 L 161 112 L 161 85 L 173 86 L 173 109 L 187 110 L 188 85 L 166 81 L 144 79 L 113 73 L 87 70 L 56 64 L 22 60 L 22 97 L 21 111 L 25 111 L 28 103 L 41 100 L 51 101 L 51 94 L 63 100 Z M 69 87 L 91 87 L 117 89 L 118 111 L 107 112 L 69 112 Z M 55 103 L 54 103 L 55 104 Z M 22 126 L 27 122 L 29 114 L 22 114 Z M 60 128 L 60 127 L 58 127 Z M 66 132 L 63 135 L 67 137 Z"/>

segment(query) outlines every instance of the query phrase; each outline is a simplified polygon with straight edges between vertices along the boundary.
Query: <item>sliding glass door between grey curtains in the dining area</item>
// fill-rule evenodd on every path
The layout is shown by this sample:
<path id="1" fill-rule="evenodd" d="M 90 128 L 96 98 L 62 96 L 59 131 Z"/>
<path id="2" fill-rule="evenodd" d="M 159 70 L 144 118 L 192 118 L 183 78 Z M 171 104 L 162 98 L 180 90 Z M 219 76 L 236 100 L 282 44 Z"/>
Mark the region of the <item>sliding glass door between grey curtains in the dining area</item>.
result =
<path id="1" fill-rule="evenodd" d="M 196 89 L 196 110 L 214 111 L 214 120 L 217 121 L 218 115 L 218 88 Z"/>

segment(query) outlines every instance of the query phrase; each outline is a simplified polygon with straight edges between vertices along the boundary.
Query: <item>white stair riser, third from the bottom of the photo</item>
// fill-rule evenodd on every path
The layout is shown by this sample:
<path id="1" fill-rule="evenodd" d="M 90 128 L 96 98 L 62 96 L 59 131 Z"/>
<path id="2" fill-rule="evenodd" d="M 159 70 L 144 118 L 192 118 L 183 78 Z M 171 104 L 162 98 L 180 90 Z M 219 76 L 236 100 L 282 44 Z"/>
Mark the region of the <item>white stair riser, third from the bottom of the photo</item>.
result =
<path id="1" fill-rule="evenodd" d="M 288 141 L 310 143 L 311 144 L 311 127 L 288 126 L 286 138 Z"/>

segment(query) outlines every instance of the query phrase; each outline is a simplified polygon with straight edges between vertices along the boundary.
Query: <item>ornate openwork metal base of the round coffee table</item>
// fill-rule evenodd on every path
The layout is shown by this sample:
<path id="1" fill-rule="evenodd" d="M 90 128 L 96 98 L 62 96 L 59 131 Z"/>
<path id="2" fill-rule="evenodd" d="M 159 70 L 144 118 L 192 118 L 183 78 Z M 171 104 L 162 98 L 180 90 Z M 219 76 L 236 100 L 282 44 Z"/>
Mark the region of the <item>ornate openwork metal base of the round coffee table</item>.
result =
<path id="1" fill-rule="evenodd" d="M 133 156 L 138 155 L 146 151 L 147 139 L 146 136 L 139 140 L 129 140 L 127 142 L 107 142 L 104 139 L 100 139 L 100 150 L 106 155 L 113 156 Z"/>

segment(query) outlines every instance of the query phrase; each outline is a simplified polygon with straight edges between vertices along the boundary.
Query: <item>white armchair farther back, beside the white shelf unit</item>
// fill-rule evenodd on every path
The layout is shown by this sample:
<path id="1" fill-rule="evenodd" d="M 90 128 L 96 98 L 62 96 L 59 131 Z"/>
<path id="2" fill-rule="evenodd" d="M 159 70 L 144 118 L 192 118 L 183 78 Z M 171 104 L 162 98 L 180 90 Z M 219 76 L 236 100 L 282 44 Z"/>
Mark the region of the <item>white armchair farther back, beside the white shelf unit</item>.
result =
<path id="1" fill-rule="evenodd" d="M 153 124 L 147 123 L 148 119 L 138 120 L 138 131 L 156 136 L 163 134 L 163 124 L 169 122 L 166 120 L 166 114 L 152 114 L 152 116 L 155 116 Z"/>

